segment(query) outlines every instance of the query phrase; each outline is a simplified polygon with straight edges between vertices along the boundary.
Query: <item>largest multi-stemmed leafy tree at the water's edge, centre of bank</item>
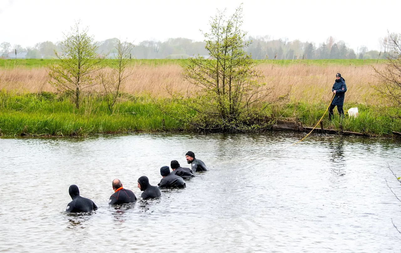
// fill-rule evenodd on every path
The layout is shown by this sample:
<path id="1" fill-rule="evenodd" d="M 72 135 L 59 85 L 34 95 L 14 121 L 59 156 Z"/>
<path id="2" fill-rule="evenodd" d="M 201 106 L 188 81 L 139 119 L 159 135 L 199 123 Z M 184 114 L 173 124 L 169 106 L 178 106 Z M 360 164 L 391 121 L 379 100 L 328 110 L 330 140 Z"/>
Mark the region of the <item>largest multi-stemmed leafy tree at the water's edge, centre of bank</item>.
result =
<path id="1" fill-rule="evenodd" d="M 251 42 L 244 42 L 241 14 L 242 5 L 228 19 L 225 12 L 219 11 L 211 20 L 211 31 L 203 33 L 205 48 L 213 60 L 202 56 L 188 60 L 184 78 L 197 90 L 187 99 L 170 92 L 174 101 L 189 110 L 174 114 L 178 120 L 200 129 L 245 130 L 258 126 L 252 119 L 263 115 L 264 108 L 258 110 L 255 106 L 269 95 L 269 89 L 258 82 L 262 75 L 244 51 Z"/>

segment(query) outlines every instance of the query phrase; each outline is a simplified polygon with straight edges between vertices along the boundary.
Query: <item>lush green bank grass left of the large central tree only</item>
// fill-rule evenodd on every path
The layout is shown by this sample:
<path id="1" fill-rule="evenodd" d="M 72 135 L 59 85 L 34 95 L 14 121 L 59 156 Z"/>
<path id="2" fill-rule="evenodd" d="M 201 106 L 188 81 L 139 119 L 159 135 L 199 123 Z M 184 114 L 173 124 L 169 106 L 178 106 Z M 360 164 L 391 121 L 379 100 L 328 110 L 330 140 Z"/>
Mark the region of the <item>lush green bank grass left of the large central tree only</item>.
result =
<path id="1" fill-rule="evenodd" d="M 176 131 L 182 126 L 164 115 L 146 98 L 129 98 L 116 105 L 111 115 L 101 98 L 86 97 L 79 110 L 55 94 L 9 94 L 0 92 L 2 135 L 90 135 L 134 131 Z"/>

